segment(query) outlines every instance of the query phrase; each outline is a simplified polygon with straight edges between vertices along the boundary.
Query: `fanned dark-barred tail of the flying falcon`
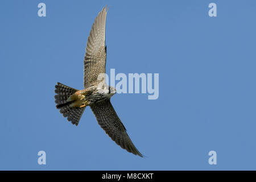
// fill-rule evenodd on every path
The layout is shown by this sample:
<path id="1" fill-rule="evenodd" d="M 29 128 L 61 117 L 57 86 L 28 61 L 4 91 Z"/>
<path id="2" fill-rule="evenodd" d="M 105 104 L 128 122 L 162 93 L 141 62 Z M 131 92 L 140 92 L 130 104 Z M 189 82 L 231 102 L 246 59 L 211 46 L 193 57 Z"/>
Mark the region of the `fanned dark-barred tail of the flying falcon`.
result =
<path id="1" fill-rule="evenodd" d="M 68 97 L 74 94 L 77 89 L 73 89 L 59 82 L 57 82 L 55 88 L 55 103 L 57 104 L 56 108 L 60 109 L 60 113 L 63 114 L 64 117 L 68 117 L 68 121 L 71 121 L 73 125 L 77 126 L 85 107 L 69 107 L 69 104 L 71 104 L 73 101 L 67 102 Z"/>

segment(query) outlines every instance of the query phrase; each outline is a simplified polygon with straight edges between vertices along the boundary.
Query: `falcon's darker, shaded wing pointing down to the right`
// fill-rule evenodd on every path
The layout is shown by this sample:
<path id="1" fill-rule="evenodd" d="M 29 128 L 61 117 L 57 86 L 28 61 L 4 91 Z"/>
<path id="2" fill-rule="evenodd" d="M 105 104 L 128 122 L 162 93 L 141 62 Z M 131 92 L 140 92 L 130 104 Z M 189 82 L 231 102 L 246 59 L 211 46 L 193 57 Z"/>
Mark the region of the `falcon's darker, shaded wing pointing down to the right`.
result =
<path id="1" fill-rule="evenodd" d="M 137 150 L 133 142 L 131 142 L 130 137 L 126 133 L 125 126 L 123 126 L 117 113 L 115 113 L 110 100 L 96 102 L 96 104 L 91 105 L 90 108 L 102 129 L 105 130 L 106 134 L 108 134 L 115 143 L 128 152 L 142 157 L 142 154 Z"/>

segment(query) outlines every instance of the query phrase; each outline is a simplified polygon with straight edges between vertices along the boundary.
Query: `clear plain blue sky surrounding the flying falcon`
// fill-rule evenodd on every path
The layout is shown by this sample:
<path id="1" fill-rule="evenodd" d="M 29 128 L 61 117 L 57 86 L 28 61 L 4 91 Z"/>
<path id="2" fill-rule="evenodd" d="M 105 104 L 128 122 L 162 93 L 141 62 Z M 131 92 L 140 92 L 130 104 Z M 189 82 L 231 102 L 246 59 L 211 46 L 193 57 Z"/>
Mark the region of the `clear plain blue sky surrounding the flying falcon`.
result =
<path id="1" fill-rule="evenodd" d="M 107 73 L 159 73 L 158 100 L 112 98 L 147 158 L 117 146 L 89 107 L 78 127 L 55 107 L 57 81 L 82 89 L 86 41 L 105 5 Z M 256 169 L 255 18 L 253 0 L 1 1 L 0 169 Z"/>

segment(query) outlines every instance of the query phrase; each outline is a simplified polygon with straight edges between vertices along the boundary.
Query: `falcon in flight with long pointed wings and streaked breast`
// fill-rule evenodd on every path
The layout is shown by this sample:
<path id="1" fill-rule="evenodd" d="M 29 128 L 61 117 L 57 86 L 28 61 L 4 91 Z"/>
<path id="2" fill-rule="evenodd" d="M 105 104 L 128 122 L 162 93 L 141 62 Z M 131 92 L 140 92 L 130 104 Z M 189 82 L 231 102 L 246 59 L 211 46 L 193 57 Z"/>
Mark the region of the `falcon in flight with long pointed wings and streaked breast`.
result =
<path id="1" fill-rule="evenodd" d="M 135 155 L 142 154 L 131 142 L 125 126 L 115 113 L 110 98 L 116 90 L 105 84 L 105 77 L 98 77 L 106 69 L 105 25 L 108 9 L 98 13 L 88 36 L 84 57 L 84 89 L 77 90 L 57 82 L 55 103 L 57 109 L 73 125 L 78 125 L 86 106 L 90 106 L 99 125 L 115 143 Z M 104 84 L 101 84 L 104 82 Z"/>

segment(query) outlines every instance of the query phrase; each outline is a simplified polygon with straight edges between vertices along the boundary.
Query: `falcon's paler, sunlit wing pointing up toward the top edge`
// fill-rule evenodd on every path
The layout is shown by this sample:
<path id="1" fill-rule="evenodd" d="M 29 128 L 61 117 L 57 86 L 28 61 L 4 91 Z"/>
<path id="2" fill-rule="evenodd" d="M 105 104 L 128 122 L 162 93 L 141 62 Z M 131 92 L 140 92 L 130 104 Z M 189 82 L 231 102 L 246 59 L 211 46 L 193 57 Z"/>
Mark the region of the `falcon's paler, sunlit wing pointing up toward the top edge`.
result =
<path id="1" fill-rule="evenodd" d="M 107 12 L 108 10 L 104 7 L 94 20 L 92 30 L 90 30 L 84 57 L 84 88 L 96 86 L 98 75 L 106 72 L 105 26 Z"/>

